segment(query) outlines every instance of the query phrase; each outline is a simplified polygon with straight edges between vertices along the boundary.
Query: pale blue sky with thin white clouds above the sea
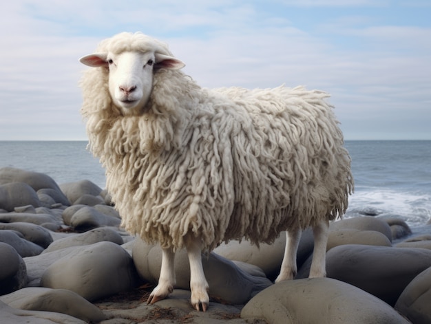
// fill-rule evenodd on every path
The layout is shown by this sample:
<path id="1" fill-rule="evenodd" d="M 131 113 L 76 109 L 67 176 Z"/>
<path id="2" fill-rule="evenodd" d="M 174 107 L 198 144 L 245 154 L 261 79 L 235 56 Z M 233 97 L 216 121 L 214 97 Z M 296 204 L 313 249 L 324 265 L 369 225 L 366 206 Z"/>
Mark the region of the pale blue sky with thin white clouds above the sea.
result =
<path id="1" fill-rule="evenodd" d="M 346 140 L 431 140 L 429 0 L 0 2 L 0 140 L 86 140 L 78 62 L 118 32 L 202 87 L 327 91 Z"/>

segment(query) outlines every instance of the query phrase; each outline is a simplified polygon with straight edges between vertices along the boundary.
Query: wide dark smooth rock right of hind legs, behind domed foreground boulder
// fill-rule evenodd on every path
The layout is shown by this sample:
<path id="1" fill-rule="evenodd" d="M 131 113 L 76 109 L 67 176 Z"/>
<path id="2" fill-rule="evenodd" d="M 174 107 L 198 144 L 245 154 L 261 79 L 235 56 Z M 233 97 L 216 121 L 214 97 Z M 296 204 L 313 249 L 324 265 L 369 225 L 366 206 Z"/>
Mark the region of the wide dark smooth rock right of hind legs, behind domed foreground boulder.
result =
<path id="1" fill-rule="evenodd" d="M 311 260 L 297 278 L 308 277 Z M 326 275 L 355 285 L 389 305 L 395 305 L 404 288 L 431 266 L 431 251 L 422 248 L 343 245 L 326 253 Z"/>

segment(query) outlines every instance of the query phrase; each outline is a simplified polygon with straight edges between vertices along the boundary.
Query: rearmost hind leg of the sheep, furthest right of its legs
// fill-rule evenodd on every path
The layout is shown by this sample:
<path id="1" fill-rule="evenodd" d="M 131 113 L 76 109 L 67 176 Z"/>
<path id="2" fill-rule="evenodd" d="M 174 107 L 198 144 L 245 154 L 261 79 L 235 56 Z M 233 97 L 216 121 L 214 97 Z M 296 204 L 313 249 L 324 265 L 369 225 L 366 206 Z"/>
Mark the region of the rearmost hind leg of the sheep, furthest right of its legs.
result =
<path id="1" fill-rule="evenodd" d="M 313 226 L 314 250 L 309 278 L 326 277 L 326 245 L 328 244 L 329 222 L 323 220 Z"/>

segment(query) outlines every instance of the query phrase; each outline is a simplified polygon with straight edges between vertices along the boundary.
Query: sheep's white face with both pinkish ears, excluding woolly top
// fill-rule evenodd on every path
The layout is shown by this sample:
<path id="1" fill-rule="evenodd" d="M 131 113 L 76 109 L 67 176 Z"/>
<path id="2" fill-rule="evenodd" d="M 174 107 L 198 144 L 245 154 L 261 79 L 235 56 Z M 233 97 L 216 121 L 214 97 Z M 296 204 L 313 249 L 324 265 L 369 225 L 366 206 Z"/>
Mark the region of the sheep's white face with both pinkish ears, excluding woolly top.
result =
<path id="1" fill-rule="evenodd" d="M 125 115 L 143 111 L 151 94 L 154 69 L 180 69 L 184 66 L 177 58 L 151 51 L 90 54 L 80 61 L 109 70 L 109 94 L 114 105 Z"/>

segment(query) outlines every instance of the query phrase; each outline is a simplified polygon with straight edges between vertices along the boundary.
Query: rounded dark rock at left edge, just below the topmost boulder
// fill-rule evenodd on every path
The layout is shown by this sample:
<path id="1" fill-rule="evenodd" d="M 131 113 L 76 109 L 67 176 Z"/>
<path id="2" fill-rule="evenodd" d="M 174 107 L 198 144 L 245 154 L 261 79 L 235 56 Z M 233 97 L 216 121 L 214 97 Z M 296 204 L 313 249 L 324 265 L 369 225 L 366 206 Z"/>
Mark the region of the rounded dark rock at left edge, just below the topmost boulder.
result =
<path id="1" fill-rule="evenodd" d="M 15 207 L 25 205 L 41 206 L 41 201 L 31 186 L 23 182 L 0 186 L 0 208 L 12 211 Z"/>

